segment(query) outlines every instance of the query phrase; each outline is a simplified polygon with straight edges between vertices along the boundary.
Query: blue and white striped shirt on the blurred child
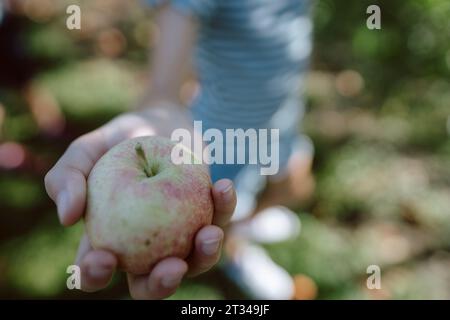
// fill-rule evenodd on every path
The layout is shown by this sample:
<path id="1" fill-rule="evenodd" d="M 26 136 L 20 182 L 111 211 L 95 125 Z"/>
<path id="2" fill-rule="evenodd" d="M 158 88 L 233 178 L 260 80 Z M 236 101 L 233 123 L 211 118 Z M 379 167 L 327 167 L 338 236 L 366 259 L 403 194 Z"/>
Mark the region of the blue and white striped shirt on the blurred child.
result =
<path id="1" fill-rule="evenodd" d="M 311 51 L 309 0 L 147 1 L 170 1 L 200 22 L 195 66 L 201 89 L 192 112 L 204 129 L 298 123 L 298 89 Z"/>

